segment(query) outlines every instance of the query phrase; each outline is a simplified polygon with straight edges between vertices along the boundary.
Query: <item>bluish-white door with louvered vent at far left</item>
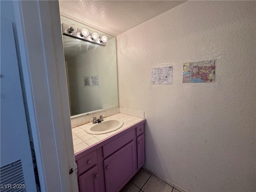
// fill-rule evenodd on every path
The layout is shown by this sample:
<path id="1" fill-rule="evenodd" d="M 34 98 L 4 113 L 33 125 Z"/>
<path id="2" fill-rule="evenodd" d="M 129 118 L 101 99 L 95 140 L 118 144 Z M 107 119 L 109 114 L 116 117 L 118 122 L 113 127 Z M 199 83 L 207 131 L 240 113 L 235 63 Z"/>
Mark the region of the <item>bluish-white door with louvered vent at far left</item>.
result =
<path id="1" fill-rule="evenodd" d="M 1 18 L 1 191 L 36 191 L 12 22 Z"/>

